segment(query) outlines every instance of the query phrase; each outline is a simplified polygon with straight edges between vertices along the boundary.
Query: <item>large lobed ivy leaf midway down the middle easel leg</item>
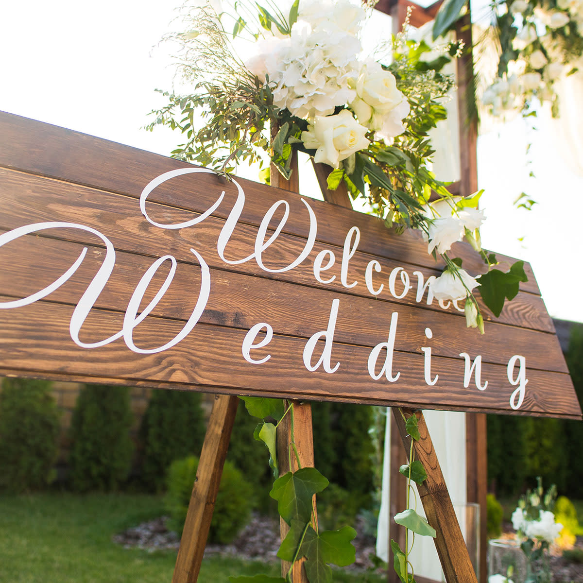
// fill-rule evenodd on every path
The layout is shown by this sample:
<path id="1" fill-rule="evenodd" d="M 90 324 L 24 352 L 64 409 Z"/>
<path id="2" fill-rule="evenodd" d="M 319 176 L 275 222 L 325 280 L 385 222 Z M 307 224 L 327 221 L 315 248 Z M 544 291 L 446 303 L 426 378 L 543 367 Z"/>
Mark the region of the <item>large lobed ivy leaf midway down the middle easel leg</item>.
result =
<path id="1" fill-rule="evenodd" d="M 300 468 L 278 477 L 269 496 L 278 501 L 279 514 L 287 524 L 293 518 L 305 523 L 312 516 L 312 496 L 324 490 L 328 483 L 317 469 Z"/>

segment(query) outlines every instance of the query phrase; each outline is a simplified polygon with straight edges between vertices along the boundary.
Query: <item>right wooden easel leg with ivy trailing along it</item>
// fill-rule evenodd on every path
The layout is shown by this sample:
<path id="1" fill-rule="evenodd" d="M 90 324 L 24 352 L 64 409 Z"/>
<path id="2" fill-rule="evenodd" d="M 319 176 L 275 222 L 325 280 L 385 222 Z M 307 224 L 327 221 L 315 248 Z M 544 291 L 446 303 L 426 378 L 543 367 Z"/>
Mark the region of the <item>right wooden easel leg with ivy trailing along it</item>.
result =
<path id="1" fill-rule="evenodd" d="M 427 479 L 417 486 L 417 491 L 419 491 L 427 521 L 437 531 L 437 538 L 434 540 L 445 580 L 447 583 L 477 583 L 423 413 L 411 409 L 393 409 L 395 422 L 408 455 L 411 438 L 405 429 L 405 420 L 401 411 L 406 417 L 417 416 L 420 439 L 413 441 L 413 451 L 415 451 L 415 459 L 423 463 L 427 472 Z"/>

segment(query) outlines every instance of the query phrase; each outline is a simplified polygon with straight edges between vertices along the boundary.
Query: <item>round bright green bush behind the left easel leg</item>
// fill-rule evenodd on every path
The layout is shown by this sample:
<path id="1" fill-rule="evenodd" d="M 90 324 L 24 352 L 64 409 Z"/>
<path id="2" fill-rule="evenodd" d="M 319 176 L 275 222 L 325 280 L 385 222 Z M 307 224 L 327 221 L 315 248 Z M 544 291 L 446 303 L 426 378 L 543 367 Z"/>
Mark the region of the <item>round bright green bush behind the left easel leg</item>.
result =
<path id="1" fill-rule="evenodd" d="M 184 528 L 198 461 L 194 455 L 177 459 L 168 470 L 168 491 L 164 497 L 164 507 L 170 515 L 168 528 L 179 535 Z M 225 462 L 210 522 L 210 543 L 231 542 L 247 524 L 251 514 L 251 493 L 251 485 L 241 472 L 231 462 Z"/>

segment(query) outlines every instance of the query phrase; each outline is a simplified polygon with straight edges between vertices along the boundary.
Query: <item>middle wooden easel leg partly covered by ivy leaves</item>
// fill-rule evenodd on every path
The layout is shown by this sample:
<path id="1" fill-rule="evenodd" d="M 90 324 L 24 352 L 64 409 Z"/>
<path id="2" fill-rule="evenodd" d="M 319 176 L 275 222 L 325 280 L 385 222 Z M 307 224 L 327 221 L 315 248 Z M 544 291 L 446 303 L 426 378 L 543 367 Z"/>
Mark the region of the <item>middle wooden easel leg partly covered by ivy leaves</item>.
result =
<path id="1" fill-rule="evenodd" d="M 287 408 L 286 403 L 286 408 Z M 300 457 L 300 464 L 302 468 L 314 467 L 314 434 L 312 433 L 312 408 L 310 405 L 301 404 L 294 401 L 293 406 L 293 437 L 296 443 L 296 448 Z M 299 466 L 297 464 L 296 454 L 291 448 L 291 416 L 286 415 L 278 426 L 277 448 L 278 448 L 278 469 L 279 475 L 291 471 L 295 472 Z M 312 507 L 314 508 L 314 520 L 317 521 L 316 514 L 316 498 L 312 499 Z M 317 522 L 316 522 L 317 524 Z M 289 526 L 287 522 L 280 518 L 279 528 L 282 540 L 285 539 Z M 291 571 L 291 581 L 293 583 L 308 583 L 303 568 L 303 560 L 294 563 L 293 571 Z M 285 577 L 289 571 L 290 563 L 282 561 L 282 575 Z"/>

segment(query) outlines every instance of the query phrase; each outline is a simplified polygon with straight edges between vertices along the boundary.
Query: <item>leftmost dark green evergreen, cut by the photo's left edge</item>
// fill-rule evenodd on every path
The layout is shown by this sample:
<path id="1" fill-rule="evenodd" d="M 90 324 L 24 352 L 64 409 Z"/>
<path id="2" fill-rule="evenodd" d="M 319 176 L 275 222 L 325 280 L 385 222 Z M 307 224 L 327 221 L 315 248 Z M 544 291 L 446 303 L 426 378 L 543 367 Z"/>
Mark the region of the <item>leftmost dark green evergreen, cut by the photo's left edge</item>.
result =
<path id="1" fill-rule="evenodd" d="M 5 378 L 0 393 L 0 489 L 40 490 L 54 477 L 61 426 L 47 381 Z"/>

